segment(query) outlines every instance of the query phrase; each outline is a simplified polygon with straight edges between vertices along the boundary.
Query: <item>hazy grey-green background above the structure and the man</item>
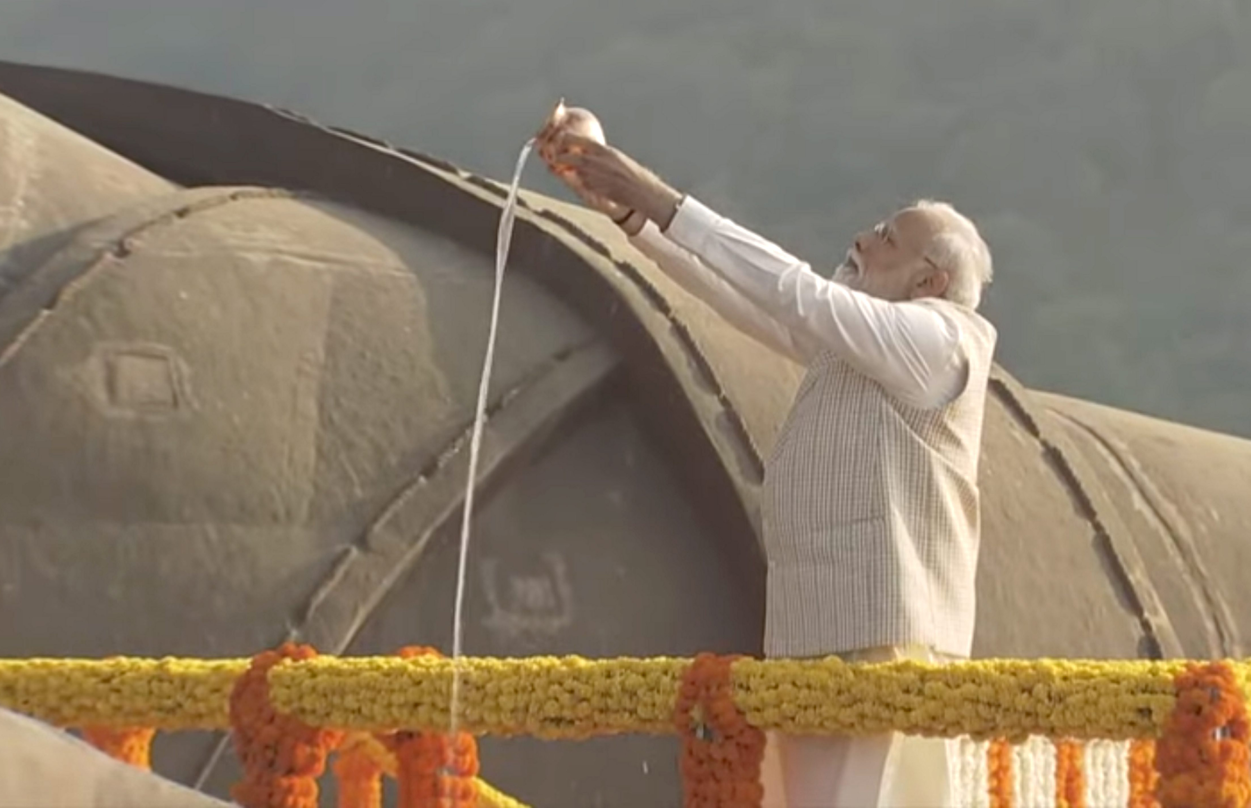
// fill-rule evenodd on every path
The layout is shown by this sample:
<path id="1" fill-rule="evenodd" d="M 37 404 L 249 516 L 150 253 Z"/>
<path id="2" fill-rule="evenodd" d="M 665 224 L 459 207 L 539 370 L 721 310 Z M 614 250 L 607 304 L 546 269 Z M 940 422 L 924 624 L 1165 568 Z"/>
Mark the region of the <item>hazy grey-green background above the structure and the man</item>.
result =
<path id="1" fill-rule="evenodd" d="M 823 268 L 893 206 L 946 196 L 995 250 L 1010 370 L 1251 435 L 1248 18 L 1233 0 L 3 0 L 0 55 L 280 104 L 499 178 L 564 95 Z"/>

